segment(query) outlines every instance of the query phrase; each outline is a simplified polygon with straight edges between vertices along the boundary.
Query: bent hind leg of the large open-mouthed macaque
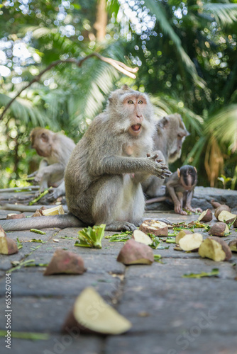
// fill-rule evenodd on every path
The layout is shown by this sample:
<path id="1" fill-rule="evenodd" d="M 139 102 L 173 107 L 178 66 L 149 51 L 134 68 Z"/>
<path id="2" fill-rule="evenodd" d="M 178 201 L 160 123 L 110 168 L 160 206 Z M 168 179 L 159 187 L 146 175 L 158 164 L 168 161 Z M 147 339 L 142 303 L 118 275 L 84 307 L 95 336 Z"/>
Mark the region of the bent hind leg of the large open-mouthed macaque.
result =
<path id="1" fill-rule="evenodd" d="M 135 212 L 136 218 L 134 218 L 133 197 L 136 190 L 133 190 L 130 176 L 126 175 L 126 178 L 118 175 L 104 176 L 97 181 L 90 193 L 95 195 L 92 203 L 92 218 L 95 224 L 106 224 L 106 231 L 136 229 L 133 219 L 138 222 L 137 219 L 142 217 L 144 197 L 142 194 L 141 215 L 138 217 L 138 213 Z"/>

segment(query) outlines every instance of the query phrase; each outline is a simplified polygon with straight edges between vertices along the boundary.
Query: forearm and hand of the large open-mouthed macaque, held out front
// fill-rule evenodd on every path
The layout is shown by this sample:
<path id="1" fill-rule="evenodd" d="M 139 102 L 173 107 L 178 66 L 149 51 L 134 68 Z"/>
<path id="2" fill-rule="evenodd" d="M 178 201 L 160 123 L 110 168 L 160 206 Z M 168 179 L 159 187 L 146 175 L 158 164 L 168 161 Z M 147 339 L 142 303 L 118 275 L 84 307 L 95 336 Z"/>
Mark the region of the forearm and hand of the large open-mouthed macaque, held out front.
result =
<path id="1" fill-rule="evenodd" d="M 121 174 L 121 173 L 136 173 L 141 172 L 146 175 L 153 174 L 164 179 L 170 176 L 170 171 L 167 166 L 160 164 L 156 161 L 158 155 L 150 157 L 131 158 L 123 156 L 106 156 L 99 164 L 98 168 L 95 167 L 94 173 L 101 174 Z"/>

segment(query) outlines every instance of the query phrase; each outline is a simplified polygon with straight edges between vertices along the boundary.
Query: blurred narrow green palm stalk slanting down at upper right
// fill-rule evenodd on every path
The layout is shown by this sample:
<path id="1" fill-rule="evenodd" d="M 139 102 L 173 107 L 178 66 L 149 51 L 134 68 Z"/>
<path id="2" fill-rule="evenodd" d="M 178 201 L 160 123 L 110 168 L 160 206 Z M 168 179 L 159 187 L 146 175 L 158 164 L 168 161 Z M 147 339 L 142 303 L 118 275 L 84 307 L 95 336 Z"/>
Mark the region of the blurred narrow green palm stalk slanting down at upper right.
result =
<path id="1" fill-rule="evenodd" d="M 184 66 L 186 67 L 187 71 L 192 76 L 194 83 L 197 84 L 197 86 L 199 86 L 200 88 L 205 89 L 205 82 L 197 74 L 197 70 L 194 65 L 194 62 L 192 62 L 189 55 L 187 55 L 187 53 L 185 52 L 184 48 L 182 47 L 182 42 L 180 40 L 180 37 L 175 33 L 175 30 L 173 30 L 172 25 L 170 25 L 169 21 L 167 20 L 167 16 L 162 4 L 160 4 L 159 1 L 155 2 L 154 0 L 144 0 L 144 1 L 145 1 L 145 6 L 150 8 L 150 11 L 158 19 L 160 28 L 174 42 L 177 52 L 180 55 L 180 58 L 182 59 L 182 62 L 184 63 Z"/>

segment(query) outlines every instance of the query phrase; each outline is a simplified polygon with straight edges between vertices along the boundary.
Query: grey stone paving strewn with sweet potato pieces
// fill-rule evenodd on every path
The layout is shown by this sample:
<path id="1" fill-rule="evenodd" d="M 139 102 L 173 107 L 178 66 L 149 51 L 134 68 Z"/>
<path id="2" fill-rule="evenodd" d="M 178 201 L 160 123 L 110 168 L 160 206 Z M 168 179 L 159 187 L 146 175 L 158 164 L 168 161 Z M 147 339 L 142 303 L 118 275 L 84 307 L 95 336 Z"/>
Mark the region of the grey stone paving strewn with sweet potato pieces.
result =
<path id="1" fill-rule="evenodd" d="M 199 198 L 208 202 L 210 191 L 201 192 Z M 227 200 L 236 200 L 237 196 L 233 191 L 212 192 L 221 200 L 224 195 Z M 28 196 L 27 193 L 2 193 L 0 203 L 13 202 L 16 198 L 24 200 L 23 195 Z M 166 209 L 148 211 L 146 216 L 166 217 L 171 222 L 197 219 L 197 215 L 175 215 L 169 207 Z M 0 224 L 8 213 L 0 210 Z M 31 214 L 26 212 L 26 215 Z M 28 335 L 25 339 L 12 338 L 11 350 L 5 347 L 5 338 L 1 337 L 1 353 L 237 353 L 237 253 L 233 253 L 228 262 L 216 263 L 200 258 L 198 253 L 175 251 L 175 244 L 170 244 L 169 249 L 154 250 L 154 254 L 162 256 L 162 263 L 125 266 L 116 261 L 123 243 L 103 239 L 101 250 L 81 249 L 74 246 L 75 239 L 63 238 L 76 237 L 78 230 L 45 229 L 45 235 L 29 231 L 8 233 L 11 239 L 18 237 L 23 248 L 16 255 L 0 256 L 0 330 L 6 327 L 5 274 L 12 268 L 11 262 L 33 260 L 34 266 L 22 266 L 11 273 L 11 330 L 15 335 L 18 332 Z M 206 233 L 201 232 L 206 237 Z M 108 234 L 113 233 L 106 232 Z M 237 230 L 232 227 L 231 236 L 225 241 L 236 236 Z M 28 242 L 32 239 L 42 239 L 46 243 Z M 49 263 L 59 248 L 81 255 L 87 272 L 45 277 L 43 265 Z M 213 268 L 219 268 L 216 278 L 182 278 L 184 273 L 210 272 Z M 94 287 L 106 302 L 131 321 L 133 326 L 128 333 L 121 336 L 61 333 L 77 295 L 88 286 Z M 33 341 L 28 338 L 29 333 L 45 335 L 45 338 Z"/>

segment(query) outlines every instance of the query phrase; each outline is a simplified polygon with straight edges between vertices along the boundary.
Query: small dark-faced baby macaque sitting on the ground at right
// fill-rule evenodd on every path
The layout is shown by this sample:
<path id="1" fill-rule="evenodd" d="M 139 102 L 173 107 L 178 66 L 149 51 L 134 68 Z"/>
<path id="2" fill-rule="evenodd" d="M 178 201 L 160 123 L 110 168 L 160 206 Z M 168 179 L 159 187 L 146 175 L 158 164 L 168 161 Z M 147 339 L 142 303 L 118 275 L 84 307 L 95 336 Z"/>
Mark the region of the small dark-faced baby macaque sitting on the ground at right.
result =
<path id="1" fill-rule="evenodd" d="M 194 187 L 197 185 L 197 169 L 196 167 L 185 165 L 172 173 L 167 179 L 165 195 L 148 200 L 146 203 L 161 202 L 162 200 L 170 199 L 175 205 L 175 212 L 181 215 L 187 215 L 190 212 L 202 212 L 202 209 L 194 209 L 191 206 Z"/>

